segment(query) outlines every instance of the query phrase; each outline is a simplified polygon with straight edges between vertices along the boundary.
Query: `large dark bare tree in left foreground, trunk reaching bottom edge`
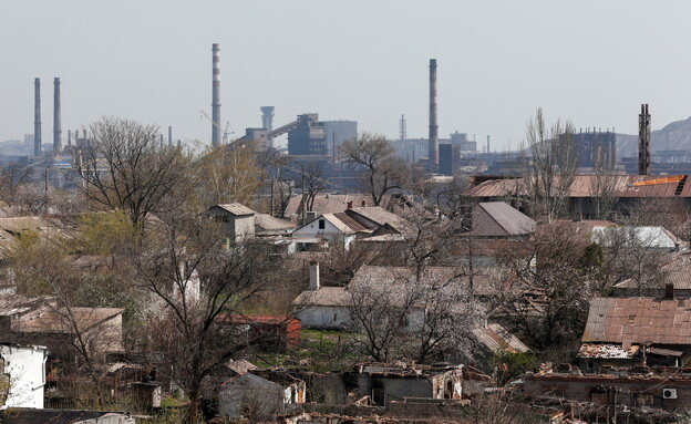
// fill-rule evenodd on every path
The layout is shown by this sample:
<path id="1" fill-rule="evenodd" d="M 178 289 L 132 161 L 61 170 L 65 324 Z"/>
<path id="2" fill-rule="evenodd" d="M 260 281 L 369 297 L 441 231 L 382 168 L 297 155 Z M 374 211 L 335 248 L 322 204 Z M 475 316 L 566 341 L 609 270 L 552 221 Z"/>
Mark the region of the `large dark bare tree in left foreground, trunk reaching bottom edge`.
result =
<path id="1" fill-rule="evenodd" d="M 240 313 L 267 280 L 256 278 L 266 262 L 251 247 L 225 249 L 219 231 L 198 216 L 178 217 L 165 238 L 133 256 L 143 287 L 161 300 L 161 312 L 151 318 L 153 343 L 189 397 L 190 424 L 197 422 L 204 378 L 252 343 L 225 317 Z"/>

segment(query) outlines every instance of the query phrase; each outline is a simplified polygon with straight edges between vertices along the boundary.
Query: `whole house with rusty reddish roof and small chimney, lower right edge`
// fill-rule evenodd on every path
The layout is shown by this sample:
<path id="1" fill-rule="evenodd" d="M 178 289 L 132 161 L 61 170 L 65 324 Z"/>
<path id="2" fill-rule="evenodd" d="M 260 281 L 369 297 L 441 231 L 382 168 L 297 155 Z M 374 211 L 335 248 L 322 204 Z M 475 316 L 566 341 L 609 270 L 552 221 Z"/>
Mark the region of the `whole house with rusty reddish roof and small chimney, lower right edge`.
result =
<path id="1" fill-rule="evenodd" d="M 691 361 L 691 299 L 595 298 L 577 358 L 581 371 L 604 365 L 682 366 Z"/>

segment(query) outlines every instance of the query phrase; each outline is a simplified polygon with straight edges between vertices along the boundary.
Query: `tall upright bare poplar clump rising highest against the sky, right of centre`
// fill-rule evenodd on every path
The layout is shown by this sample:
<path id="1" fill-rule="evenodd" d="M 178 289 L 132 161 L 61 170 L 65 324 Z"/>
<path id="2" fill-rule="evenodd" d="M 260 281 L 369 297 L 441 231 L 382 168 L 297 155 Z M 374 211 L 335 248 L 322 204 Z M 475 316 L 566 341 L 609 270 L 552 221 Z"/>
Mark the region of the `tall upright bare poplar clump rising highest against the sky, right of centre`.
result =
<path id="1" fill-rule="evenodd" d="M 532 161 L 522 173 L 536 216 L 545 214 L 553 220 L 565 213 L 567 194 L 578 166 L 573 135 L 570 122 L 557 121 L 548 128 L 542 107 L 528 122 L 526 139 Z"/>

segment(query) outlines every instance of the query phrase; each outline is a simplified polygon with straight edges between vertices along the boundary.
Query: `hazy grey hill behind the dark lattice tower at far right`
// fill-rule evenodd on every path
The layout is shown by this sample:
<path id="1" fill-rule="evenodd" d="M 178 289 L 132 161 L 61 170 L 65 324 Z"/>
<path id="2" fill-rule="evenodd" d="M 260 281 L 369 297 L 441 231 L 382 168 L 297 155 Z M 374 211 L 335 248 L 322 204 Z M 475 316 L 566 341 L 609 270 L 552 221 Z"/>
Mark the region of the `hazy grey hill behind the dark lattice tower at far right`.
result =
<path id="1" fill-rule="evenodd" d="M 691 117 L 651 132 L 650 138 L 652 152 L 691 151 Z M 617 158 L 630 156 L 638 156 L 638 134 L 617 134 Z"/>

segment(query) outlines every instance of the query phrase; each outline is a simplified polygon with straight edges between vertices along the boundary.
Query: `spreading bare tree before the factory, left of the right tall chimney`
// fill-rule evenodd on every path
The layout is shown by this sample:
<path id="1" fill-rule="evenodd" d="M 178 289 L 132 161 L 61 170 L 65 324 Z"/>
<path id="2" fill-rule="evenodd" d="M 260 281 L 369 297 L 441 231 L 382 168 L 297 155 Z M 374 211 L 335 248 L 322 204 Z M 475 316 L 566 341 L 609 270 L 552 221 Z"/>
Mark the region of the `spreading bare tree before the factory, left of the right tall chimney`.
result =
<path id="1" fill-rule="evenodd" d="M 362 133 L 343 142 L 339 152 L 352 169 L 362 173 L 363 188 L 374 206 L 391 190 L 402 189 L 410 177 L 408 164 L 393 155 L 393 146 L 383 135 Z"/>

